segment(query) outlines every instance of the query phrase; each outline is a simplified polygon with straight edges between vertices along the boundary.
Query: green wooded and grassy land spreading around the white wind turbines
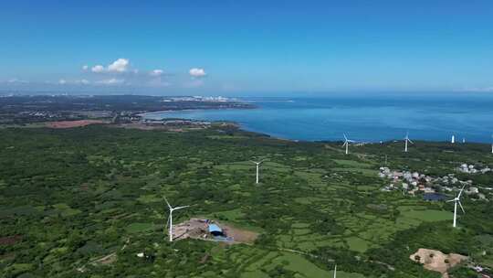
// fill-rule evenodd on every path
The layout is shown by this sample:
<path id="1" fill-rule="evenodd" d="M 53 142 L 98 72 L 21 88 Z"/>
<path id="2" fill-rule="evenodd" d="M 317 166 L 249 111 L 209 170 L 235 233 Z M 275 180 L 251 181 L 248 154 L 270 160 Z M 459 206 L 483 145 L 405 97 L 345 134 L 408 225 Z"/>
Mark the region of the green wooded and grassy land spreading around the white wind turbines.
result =
<path id="1" fill-rule="evenodd" d="M 469 257 L 451 277 L 493 267 L 487 144 L 292 142 L 213 125 L 183 133 L 90 125 L 0 130 L 2 277 L 441 277 L 410 260 L 420 248 Z M 260 183 L 255 183 L 255 165 Z M 456 173 L 487 198 L 453 204 L 381 190 L 381 166 Z M 455 192 L 448 195 L 453 198 Z M 258 233 L 246 244 L 169 242 L 175 222 L 217 219 Z M 143 258 L 137 256 L 143 252 Z"/>

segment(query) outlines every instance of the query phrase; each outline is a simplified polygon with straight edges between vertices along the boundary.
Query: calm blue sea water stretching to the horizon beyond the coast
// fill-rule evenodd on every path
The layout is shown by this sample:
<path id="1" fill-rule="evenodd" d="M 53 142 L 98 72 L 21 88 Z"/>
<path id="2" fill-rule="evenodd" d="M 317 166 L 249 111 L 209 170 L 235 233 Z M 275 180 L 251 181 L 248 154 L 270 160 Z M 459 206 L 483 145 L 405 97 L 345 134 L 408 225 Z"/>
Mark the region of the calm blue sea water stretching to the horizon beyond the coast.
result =
<path id="1" fill-rule="evenodd" d="M 493 95 L 371 95 L 303 98 L 245 98 L 253 110 L 152 112 L 150 119 L 234 121 L 249 131 L 296 140 L 362 142 L 402 139 L 491 142 Z"/>

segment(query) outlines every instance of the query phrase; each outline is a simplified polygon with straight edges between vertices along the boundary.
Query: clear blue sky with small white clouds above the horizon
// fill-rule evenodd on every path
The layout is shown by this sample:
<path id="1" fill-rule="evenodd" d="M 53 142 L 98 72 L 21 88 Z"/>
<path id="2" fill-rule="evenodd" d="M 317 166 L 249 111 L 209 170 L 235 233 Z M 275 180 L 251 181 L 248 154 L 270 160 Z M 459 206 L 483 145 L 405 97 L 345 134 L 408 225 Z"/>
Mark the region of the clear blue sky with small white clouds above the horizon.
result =
<path id="1" fill-rule="evenodd" d="M 3 91 L 493 91 L 490 0 L 5 0 L 0 18 Z"/>

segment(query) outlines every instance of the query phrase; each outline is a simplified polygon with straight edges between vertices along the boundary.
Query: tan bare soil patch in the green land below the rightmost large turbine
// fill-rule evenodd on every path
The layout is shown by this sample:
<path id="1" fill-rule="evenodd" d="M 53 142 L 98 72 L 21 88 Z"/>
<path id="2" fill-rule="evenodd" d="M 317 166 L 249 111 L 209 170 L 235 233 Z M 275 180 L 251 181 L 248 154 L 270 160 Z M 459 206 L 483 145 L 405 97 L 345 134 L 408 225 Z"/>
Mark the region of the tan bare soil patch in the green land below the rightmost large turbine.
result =
<path id="1" fill-rule="evenodd" d="M 460 254 L 444 254 L 442 251 L 420 248 L 409 257 L 414 262 L 422 263 L 425 269 L 442 273 L 442 277 L 448 277 L 448 269 L 457 263 L 467 261 L 468 257 Z"/>

